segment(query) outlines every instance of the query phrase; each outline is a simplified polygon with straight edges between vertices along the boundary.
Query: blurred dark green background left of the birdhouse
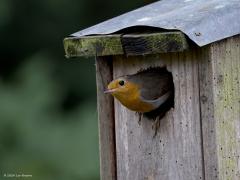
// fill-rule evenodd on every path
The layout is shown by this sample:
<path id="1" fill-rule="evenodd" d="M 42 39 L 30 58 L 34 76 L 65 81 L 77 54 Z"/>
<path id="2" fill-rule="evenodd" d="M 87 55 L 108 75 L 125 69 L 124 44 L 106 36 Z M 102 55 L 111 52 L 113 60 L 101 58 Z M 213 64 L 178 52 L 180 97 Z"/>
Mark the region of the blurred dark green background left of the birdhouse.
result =
<path id="1" fill-rule="evenodd" d="M 65 59 L 62 40 L 143 4 L 0 0 L 0 179 L 99 179 L 94 59 Z"/>

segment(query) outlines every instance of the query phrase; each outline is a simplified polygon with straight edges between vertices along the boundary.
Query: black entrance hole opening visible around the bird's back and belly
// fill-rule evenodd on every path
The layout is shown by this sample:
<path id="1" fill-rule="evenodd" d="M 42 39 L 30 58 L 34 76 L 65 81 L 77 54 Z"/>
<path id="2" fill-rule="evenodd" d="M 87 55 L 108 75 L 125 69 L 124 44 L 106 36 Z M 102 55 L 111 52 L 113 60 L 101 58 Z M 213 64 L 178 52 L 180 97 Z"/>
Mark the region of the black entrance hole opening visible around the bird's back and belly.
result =
<path id="1" fill-rule="evenodd" d="M 169 97 L 164 100 L 164 102 L 155 110 L 144 113 L 146 117 L 149 119 L 162 119 L 165 114 L 171 109 L 174 108 L 174 83 L 173 83 L 173 76 L 172 73 L 167 70 L 166 67 L 154 67 L 154 68 L 148 68 L 145 70 L 141 70 L 138 73 L 143 72 L 149 72 L 149 73 L 157 73 L 160 77 L 153 77 L 153 78 L 160 78 L 160 84 L 155 84 L 154 87 L 158 88 L 157 91 L 159 94 L 169 94 Z M 151 81 L 151 80 L 150 80 Z M 152 79 L 152 82 L 155 82 L 154 79 Z M 153 87 L 153 88 L 154 88 Z M 151 91 L 154 91 L 155 89 L 152 89 Z"/>

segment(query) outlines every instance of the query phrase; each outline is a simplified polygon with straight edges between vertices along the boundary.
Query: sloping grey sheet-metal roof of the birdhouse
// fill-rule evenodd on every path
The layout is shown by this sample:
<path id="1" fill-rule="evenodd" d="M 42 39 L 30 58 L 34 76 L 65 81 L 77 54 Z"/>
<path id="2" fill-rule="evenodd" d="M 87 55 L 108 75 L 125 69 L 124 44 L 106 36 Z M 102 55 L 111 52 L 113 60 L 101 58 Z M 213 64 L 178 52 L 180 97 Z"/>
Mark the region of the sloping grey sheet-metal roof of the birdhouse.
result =
<path id="1" fill-rule="evenodd" d="M 180 30 L 199 46 L 240 34 L 240 0 L 161 0 L 125 13 L 73 37 L 112 34 L 136 27 Z"/>

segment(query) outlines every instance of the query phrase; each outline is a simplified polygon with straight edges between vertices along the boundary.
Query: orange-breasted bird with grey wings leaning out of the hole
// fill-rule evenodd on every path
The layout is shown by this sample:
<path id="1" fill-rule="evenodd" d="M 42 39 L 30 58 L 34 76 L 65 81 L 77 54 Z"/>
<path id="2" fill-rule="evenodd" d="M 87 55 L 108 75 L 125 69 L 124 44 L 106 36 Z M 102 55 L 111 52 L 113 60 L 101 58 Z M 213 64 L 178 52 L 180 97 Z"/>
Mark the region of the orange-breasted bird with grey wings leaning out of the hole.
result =
<path id="1" fill-rule="evenodd" d="M 172 74 L 166 69 L 149 68 L 112 80 L 104 93 L 132 111 L 149 113 L 173 97 Z"/>

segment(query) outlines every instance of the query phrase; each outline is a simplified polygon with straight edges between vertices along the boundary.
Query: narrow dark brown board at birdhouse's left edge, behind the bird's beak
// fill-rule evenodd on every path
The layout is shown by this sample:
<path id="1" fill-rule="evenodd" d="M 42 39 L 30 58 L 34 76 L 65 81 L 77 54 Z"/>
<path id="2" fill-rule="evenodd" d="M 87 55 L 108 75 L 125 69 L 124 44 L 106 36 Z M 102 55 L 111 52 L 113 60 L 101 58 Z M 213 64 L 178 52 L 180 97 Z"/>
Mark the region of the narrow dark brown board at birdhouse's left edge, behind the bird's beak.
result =
<path id="1" fill-rule="evenodd" d="M 111 96 L 103 92 L 112 80 L 112 59 L 96 58 L 96 79 L 98 97 L 100 174 L 102 180 L 116 179 L 114 104 Z"/>

